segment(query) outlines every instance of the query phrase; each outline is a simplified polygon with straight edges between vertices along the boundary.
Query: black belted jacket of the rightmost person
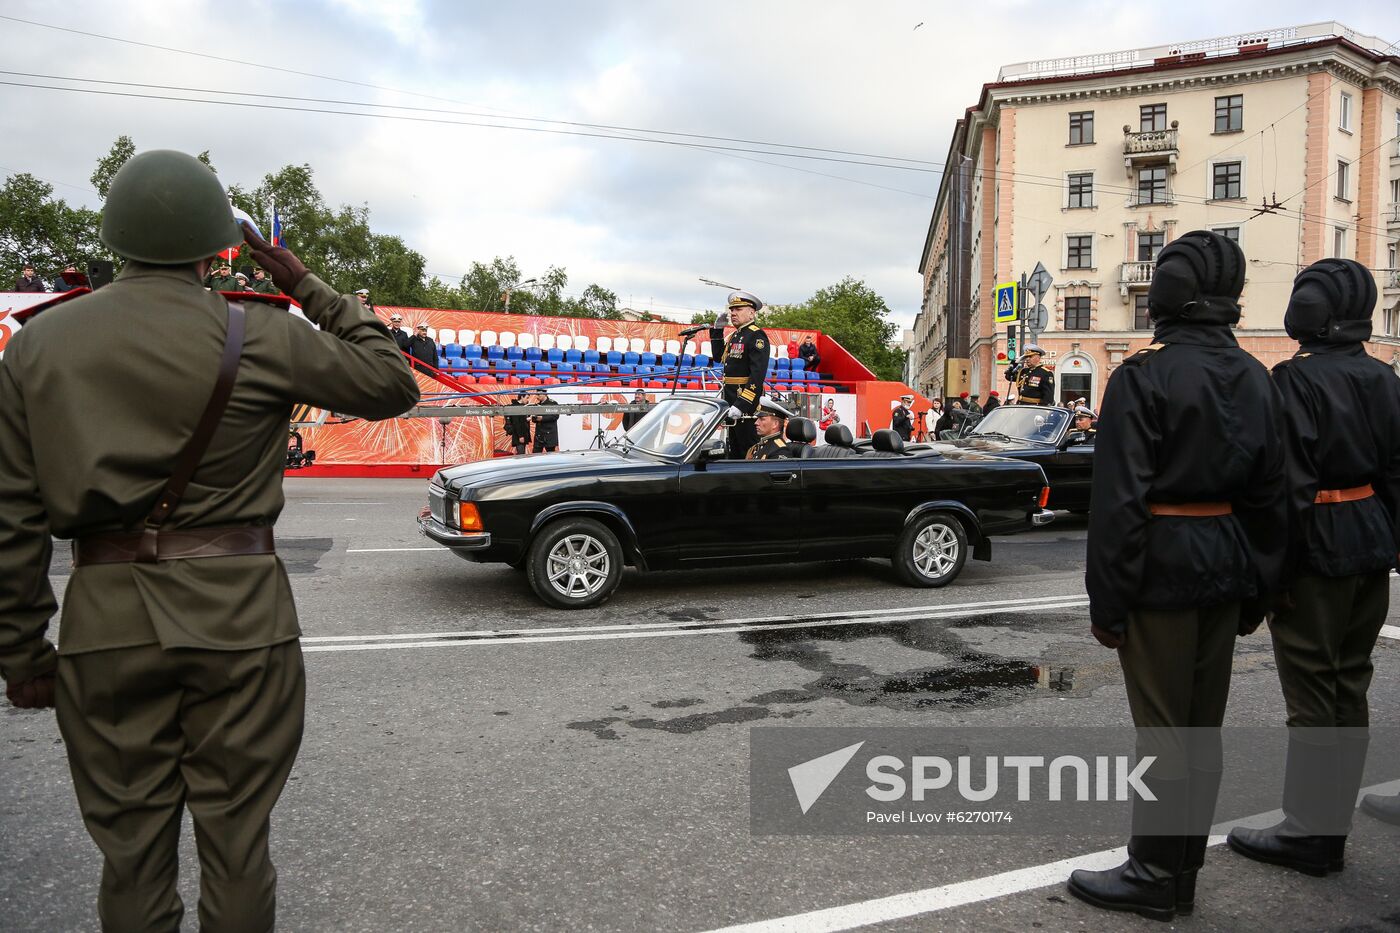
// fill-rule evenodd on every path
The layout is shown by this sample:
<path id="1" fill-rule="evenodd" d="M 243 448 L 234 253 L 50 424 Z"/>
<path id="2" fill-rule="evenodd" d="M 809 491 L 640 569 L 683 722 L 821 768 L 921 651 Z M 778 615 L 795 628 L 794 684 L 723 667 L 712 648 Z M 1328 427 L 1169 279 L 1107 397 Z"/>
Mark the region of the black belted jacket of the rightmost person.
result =
<path id="1" fill-rule="evenodd" d="M 1400 552 L 1400 380 L 1359 343 L 1305 345 L 1274 367 L 1288 430 L 1288 562 L 1294 573 L 1345 577 L 1396 566 Z M 1355 502 L 1319 489 L 1369 483 Z"/>

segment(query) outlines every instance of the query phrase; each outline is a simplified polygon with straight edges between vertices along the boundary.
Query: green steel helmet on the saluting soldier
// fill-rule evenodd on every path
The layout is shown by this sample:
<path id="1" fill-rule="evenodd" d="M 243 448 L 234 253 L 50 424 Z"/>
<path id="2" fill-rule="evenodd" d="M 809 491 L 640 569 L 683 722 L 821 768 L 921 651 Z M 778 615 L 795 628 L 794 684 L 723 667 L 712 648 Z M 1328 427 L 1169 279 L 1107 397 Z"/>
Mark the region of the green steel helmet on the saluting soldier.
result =
<path id="1" fill-rule="evenodd" d="M 244 241 L 209 165 L 172 148 L 133 156 L 112 178 L 102 242 L 137 262 L 178 266 Z"/>

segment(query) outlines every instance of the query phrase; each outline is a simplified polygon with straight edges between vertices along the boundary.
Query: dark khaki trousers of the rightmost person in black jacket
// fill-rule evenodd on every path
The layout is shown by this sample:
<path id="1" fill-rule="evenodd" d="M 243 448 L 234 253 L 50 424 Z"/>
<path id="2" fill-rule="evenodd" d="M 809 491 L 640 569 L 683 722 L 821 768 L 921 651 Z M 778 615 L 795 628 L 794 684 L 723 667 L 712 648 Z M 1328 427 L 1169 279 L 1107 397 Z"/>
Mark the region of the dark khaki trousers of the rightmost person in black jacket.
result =
<path id="1" fill-rule="evenodd" d="M 1390 611 L 1390 573 L 1301 576 L 1268 625 L 1288 724 L 1369 726 L 1371 651 Z"/>

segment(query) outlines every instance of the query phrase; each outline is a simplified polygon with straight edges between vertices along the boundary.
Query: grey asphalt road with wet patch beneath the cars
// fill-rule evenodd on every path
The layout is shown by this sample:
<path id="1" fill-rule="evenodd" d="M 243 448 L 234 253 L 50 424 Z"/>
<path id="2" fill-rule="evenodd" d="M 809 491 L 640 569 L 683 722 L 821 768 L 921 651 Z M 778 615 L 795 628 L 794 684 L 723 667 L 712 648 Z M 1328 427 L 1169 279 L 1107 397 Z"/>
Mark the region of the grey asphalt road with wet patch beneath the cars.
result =
<path id="1" fill-rule="evenodd" d="M 799 915 L 850 908 L 844 926 L 820 927 L 848 929 L 892 916 L 890 901 L 869 904 L 882 898 L 921 905 L 878 923 L 889 930 L 1163 929 L 1074 901 L 1054 869 L 993 897 L 1005 873 L 1121 835 L 749 828 L 753 726 L 1128 724 L 1116 658 L 1075 600 L 1082 518 L 998 539 L 991 563 L 969 562 L 942 590 L 902 587 L 875 560 L 627 572 L 601 609 L 563 612 L 524 574 L 420 538 L 424 482 L 290 479 L 287 493 L 279 548 L 307 636 L 308 720 L 273 822 L 281 929 L 701 932 L 795 918 L 764 929 L 802 930 L 820 918 Z M 56 587 L 66 573 L 55 566 Z M 811 625 L 732 623 L 777 616 Z M 1382 639 L 1376 668 L 1372 721 L 1397 723 L 1400 640 Z M 1267 636 L 1240 640 L 1228 721 L 1282 716 Z M 0 713 L 0 929 L 97 929 L 101 859 L 50 713 Z M 183 843 L 193 926 L 190 832 Z M 1348 867 L 1326 880 L 1217 846 L 1196 913 L 1176 926 L 1400 929 L 1397 843 L 1400 829 L 1358 815 Z M 963 902 L 930 909 L 949 901 Z"/>

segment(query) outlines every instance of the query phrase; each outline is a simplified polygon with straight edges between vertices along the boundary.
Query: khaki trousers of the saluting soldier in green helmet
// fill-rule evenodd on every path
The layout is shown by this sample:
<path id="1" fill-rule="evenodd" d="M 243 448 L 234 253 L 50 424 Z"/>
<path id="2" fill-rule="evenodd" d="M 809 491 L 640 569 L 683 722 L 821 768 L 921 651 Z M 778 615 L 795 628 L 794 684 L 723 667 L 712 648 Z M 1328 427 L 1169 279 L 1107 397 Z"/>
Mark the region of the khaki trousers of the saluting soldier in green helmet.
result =
<path id="1" fill-rule="evenodd" d="M 189 807 L 206 933 L 272 930 L 269 815 L 301 744 L 298 642 L 248 651 L 158 646 L 59 657 L 57 720 L 102 850 L 102 929 L 178 930 Z"/>

